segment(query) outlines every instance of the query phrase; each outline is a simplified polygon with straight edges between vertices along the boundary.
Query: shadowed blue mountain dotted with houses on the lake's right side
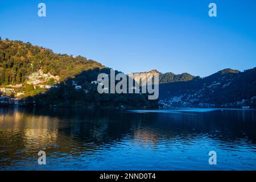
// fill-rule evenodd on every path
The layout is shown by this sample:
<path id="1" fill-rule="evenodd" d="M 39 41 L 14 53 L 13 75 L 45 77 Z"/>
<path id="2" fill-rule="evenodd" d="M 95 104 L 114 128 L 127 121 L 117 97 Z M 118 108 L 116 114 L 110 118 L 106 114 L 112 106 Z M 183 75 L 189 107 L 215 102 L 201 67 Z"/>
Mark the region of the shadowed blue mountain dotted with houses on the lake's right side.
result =
<path id="1" fill-rule="evenodd" d="M 255 107 L 256 68 L 240 72 L 224 69 L 208 77 L 159 86 L 159 100 L 164 107 Z"/>

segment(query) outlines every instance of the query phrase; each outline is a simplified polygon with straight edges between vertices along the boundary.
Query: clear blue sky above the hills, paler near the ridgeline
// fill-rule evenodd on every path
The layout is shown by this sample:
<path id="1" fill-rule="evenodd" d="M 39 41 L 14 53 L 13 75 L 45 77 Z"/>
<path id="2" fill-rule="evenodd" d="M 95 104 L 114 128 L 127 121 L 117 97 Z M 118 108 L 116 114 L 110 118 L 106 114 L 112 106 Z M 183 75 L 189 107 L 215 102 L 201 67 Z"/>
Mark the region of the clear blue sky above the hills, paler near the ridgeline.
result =
<path id="1" fill-rule="evenodd" d="M 46 17 L 38 3 L 46 3 Z M 208 16 L 210 2 L 217 17 Z M 255 0 L 1 0 L 0 36 L 124 73 L 256 67 Z"/>

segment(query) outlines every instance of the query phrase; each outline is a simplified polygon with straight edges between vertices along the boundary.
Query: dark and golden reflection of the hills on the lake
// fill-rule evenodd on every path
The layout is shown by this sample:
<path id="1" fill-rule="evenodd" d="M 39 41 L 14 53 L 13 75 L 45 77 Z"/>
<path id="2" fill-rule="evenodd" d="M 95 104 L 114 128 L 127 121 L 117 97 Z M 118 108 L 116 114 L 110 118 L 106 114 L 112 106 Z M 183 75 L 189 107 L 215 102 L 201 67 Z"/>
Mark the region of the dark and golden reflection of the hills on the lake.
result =
<path id="1" fill-rule="evenodd" d="M 0 109 L 1 156 L 92 155 L 118 144 L 158 150 L 213 140 L 230 148 L 256 143 L 255 111 L 129 113 L 100 110 Z M 26 151 L 26 152 L 24 152 Z"/>

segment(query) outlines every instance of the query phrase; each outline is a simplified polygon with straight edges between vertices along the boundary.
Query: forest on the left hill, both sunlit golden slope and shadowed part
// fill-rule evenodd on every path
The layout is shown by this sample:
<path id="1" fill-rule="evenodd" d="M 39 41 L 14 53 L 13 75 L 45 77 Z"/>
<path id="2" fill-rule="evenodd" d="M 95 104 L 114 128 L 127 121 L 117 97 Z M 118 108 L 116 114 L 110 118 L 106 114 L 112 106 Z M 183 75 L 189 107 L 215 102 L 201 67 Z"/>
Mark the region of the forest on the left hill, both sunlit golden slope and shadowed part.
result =
<path id="1" fill-rule="evenodd" d="M 59 76 L 60 81 L 55 84 L 49 79 L 47 84 L 55 87 L 48 90 L 26 84 L 27 76 L 39 69 Z M 97 80 L 99 73 L 109 72 L 110 68 L 82 56 L 61 55 L 31 43 L 0 40 L 0 84 L 24 84 L 26 96 L 20 100 L 22 105 L 158 108 L 158 101 L 148 100 L 147 94 L 99 94 L 92 81 Z M 76 89 L 74 82 L 81 88 Z"/>

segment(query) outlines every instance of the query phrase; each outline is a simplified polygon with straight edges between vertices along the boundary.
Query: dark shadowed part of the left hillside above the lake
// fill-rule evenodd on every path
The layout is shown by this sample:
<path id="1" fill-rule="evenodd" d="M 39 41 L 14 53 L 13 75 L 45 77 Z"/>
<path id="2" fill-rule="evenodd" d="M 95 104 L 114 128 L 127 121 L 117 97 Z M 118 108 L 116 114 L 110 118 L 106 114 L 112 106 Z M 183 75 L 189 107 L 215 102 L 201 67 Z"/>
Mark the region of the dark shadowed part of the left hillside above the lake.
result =
<path id="1" fill-rule="evenodd" d="M 97 87 L 100 82 L 97 81 L 97 77 L 100 73 L 109 75 L 110 85 L 110 68 L 89 69 L 75 77 L 68 78 L 59 84 L 53 85 L 52 88 L 48 89 L 46 92 L 23 98 L 20 100 L 19 105 L 86 108 L 102 107 L 109 109 L 158 108 L 157 100 L 148 100 L 147 94 L 98 93 Z M 115 71 L 115 75 L 117 75 L 117 73 L 121 72 Z M 117 82 L 119 81 L 115 81 L 115 85 Z"/>

